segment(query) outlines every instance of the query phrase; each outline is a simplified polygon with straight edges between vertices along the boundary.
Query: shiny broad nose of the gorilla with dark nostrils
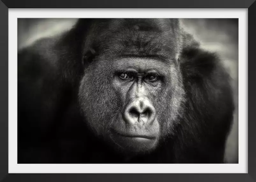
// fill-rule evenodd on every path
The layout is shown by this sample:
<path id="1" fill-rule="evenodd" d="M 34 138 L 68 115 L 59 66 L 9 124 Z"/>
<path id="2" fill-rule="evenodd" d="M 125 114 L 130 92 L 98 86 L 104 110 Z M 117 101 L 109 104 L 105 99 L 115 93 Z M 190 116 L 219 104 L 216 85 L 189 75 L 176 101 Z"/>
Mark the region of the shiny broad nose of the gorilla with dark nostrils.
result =
<path id="1" fill-rule="evenodd" d="M 146 97 L 138 97 L 126 106 L 123 119 L 127 124 L 139 122 L 152 125 L 156 119 L 156 109 Z"/>

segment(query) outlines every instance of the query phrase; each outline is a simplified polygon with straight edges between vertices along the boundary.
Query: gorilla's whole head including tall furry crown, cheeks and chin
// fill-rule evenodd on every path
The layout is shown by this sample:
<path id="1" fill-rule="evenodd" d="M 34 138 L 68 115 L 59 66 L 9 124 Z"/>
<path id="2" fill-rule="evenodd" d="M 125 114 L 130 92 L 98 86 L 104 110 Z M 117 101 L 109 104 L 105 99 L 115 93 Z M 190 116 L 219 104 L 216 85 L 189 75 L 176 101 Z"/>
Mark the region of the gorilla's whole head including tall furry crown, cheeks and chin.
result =
<path id="1" fill-rule="evenodd" d="M 84 48 L 84 117 L 97 136 L 119 149 L 150 151 L 172 132 L 184 107 L 178 20 L 99 22 L 91 25 L 96 35 L 88 33 Z M 101 26 L 107 28 L 97 32 Z"/>

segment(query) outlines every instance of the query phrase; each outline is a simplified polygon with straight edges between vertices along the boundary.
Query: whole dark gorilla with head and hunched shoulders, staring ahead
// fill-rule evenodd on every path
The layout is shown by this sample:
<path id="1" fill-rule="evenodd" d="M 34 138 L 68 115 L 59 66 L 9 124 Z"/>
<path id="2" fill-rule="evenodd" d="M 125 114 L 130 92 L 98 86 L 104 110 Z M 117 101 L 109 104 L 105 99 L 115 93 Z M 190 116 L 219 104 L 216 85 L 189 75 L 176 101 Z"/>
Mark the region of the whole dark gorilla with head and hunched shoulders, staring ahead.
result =
<path id="1" fill-rule="evenodd" d="M 18 52 L 18 163 L 224 163 L 233 111 L 179 19 L 79 19 Z"/>

